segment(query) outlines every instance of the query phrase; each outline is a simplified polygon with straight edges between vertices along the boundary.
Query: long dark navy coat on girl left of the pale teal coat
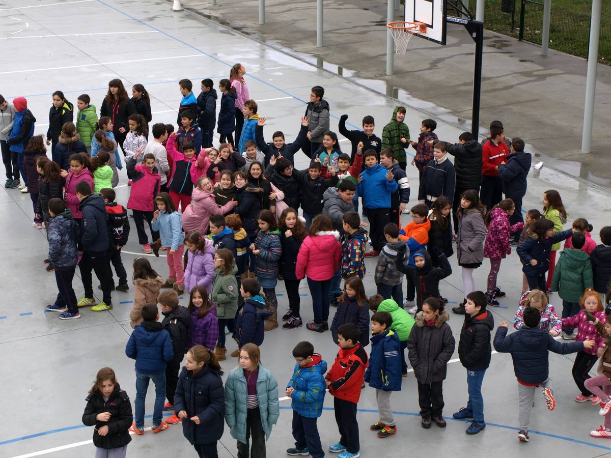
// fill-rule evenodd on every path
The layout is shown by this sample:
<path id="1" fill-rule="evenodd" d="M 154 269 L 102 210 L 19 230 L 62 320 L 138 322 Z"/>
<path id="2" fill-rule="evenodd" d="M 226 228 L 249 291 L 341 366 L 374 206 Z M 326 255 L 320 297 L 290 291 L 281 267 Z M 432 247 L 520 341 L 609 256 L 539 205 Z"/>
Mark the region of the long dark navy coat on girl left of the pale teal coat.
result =
<path id="1" fill-rule="evenodd" d="M 223 435 L 225 390 L 221 376 L 221 371 L 205 365 L 197 374 L 183 368 L 178 377 L 174 412 L 185 410 L 187 413 L 181 423 L 183 434 L 191 444 L 216 442 Z M 200 424 L 189 420 L 192 416 L 198 416 Z"/>

